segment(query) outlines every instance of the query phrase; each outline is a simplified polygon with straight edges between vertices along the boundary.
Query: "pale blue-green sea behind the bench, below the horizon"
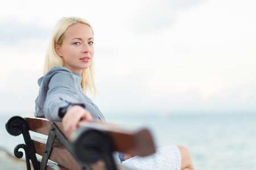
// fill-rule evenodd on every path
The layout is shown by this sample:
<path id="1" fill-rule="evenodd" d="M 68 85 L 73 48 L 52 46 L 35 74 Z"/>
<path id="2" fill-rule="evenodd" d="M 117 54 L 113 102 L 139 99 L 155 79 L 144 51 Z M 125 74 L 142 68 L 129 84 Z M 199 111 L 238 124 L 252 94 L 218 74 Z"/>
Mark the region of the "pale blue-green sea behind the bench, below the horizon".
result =
<path id="1" fill-rule="evenodd" d="M 9 115 L 0 116 L 0 148 L 13 155 L 23 137 L 6 132 Z M 195 169 L 256 169 L 256 114 L 111 114 L 111 124 L 148 128 L 157 147 L 188 148 Z M 1 159 L 1 158 L 0 158 Z"/>

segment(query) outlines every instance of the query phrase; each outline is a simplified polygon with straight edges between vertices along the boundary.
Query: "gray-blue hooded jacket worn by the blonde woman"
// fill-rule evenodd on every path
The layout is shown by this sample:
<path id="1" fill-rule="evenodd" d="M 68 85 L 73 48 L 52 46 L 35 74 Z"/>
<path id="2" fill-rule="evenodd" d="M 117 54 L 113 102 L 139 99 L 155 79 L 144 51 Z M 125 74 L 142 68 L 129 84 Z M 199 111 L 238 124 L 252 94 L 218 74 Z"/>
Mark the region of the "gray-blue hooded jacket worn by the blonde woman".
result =
<path id="1" fill-rule="evenodd" d="M 51 121 L 61 121 L 59 109 L 69 104 L 83 105 L 94 120 L 105 121 L 97 105 L 84 94 L 81 87 L 82 76 L 63 66 L 52 67 L 46 75 L 38 79 L 39 95 L 35 100 L 35 116 Z"/>

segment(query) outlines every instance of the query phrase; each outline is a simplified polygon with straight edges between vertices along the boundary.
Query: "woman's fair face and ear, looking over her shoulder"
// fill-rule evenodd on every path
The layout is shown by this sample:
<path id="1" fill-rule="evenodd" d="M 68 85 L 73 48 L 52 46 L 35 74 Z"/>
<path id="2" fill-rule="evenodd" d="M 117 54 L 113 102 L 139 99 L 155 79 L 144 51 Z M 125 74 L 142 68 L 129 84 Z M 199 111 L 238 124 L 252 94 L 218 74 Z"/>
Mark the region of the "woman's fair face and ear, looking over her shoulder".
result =
<path id="1" fill-rule="evenodd" d="M 89 25 L 78 23 L 65 31 L 63 44 L 55 44 L 55 51 L 63 57 L 64 67 L 82 74 L 82 70 L 87 69 L 92 62 L 93 41 L 93 33 Z"/>

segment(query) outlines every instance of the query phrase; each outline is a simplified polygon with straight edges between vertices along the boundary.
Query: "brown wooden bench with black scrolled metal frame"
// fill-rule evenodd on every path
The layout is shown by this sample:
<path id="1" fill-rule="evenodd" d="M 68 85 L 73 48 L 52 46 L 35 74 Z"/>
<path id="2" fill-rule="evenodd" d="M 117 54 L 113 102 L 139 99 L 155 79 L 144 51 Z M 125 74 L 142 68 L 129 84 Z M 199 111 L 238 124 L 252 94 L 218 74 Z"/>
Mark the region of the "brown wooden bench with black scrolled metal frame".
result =
<path id="1" fill-rule="evenodd" d="M 155 152 L 147 129 L 131 129 L 106 124 L 83 122 L 67 140 L 61 122 L 45 118 L 11 117 L 6 123 L 9 134 L 23 134 L 25 144 L 15 147 L 14 155 L 26 154 L 27 169 L 129 169 L 115 163 L 113 152 L 146 156 Z M 31 162 L 31 163 L 30 163 Z"/>

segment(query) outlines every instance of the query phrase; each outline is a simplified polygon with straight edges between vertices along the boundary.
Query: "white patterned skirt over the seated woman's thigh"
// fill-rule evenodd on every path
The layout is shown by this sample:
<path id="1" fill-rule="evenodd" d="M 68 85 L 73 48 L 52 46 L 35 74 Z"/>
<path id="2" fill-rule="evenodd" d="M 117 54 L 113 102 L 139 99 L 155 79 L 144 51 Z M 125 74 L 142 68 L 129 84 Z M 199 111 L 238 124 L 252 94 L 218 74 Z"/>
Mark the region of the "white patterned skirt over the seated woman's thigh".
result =
<path id="1" fill-rule="evenodd" d="M 152 155 L 134 156 L 122 162 L 123 165 L 140 170 L 180 170 L 181 155 L 177 146 L 166 146 L 156 149 Z"/>

